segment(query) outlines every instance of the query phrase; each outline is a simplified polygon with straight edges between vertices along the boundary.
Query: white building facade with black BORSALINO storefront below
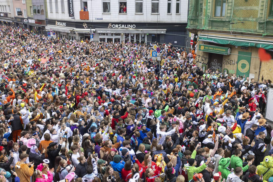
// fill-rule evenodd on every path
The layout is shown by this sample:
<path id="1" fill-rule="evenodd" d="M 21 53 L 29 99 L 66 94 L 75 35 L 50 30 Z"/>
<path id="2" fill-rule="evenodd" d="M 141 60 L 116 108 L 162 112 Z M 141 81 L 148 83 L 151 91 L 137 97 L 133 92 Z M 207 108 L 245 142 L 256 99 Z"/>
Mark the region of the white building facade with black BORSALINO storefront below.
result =
<path id="1" fill-rule="evenodd" d="M 185 45 L 187 0 L 47 0 L 47 30 L 60 38 Z"/>

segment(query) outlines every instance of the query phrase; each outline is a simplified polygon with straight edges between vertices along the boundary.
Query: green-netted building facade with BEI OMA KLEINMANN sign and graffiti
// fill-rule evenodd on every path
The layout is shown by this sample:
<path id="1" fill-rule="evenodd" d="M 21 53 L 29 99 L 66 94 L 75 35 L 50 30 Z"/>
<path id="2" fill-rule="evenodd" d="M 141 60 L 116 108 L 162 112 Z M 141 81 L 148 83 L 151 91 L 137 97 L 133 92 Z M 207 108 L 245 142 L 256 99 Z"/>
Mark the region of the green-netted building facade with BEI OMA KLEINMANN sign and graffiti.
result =
<path id="1" fill-rule="evenodd" d="M 271 0 L 190 0 L 187 29 L 198 35 L 197 64 L 256 82 L 272 78 L 272 61 L 258 55 L 259 48 L 273 55 L 272 8 Z"/>

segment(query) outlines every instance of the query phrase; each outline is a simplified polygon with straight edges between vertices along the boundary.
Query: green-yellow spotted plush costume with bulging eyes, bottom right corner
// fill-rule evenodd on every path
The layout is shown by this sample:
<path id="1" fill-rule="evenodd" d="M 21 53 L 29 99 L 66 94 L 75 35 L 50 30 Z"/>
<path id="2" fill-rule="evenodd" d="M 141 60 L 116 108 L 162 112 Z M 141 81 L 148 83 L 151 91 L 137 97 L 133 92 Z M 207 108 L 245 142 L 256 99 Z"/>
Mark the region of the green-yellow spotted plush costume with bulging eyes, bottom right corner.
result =
<path id="1" fill-rule="evenodd" d="M 257 166 L 258 175 L 263 175 L 263 181 L 266 182 L 273 176 L 273 157 L 265 156 L 263 162 Z M 268 170 L 269 169 L 269 170 Z"/>

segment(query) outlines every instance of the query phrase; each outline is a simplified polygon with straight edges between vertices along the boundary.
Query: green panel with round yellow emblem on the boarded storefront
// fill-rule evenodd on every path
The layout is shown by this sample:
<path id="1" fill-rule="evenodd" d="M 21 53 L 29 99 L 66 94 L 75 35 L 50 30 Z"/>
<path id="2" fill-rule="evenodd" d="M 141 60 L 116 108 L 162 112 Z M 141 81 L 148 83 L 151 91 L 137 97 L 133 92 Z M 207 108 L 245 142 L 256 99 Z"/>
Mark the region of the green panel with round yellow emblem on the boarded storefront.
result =
<path id="1" fill-rule="evenodd" d="M 238 62 L 237 62 L 237 71 L 236 75 L 245 77 L 249 76 L 249 69 L 250 69 L 250 62 L 251 62 L 251 53 L 238 51 Z"/>

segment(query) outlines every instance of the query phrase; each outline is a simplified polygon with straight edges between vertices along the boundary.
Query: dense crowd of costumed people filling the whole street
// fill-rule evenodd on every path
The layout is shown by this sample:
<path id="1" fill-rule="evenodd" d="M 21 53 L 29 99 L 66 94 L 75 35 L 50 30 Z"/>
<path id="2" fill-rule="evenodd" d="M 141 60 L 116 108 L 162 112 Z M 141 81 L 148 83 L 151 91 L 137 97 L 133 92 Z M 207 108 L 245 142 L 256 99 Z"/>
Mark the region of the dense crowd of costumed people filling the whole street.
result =
<path id="1" fill-rule="evenodd" d="M 270 80 L 170 43 L 158 63 L 152 43 L 0 32 L 1 182 L 273 181 Z"/>

